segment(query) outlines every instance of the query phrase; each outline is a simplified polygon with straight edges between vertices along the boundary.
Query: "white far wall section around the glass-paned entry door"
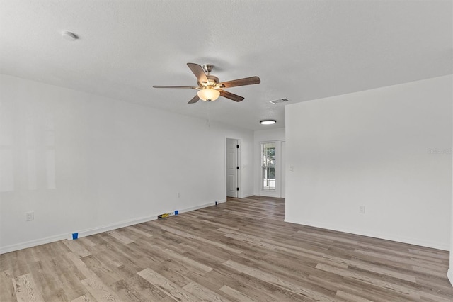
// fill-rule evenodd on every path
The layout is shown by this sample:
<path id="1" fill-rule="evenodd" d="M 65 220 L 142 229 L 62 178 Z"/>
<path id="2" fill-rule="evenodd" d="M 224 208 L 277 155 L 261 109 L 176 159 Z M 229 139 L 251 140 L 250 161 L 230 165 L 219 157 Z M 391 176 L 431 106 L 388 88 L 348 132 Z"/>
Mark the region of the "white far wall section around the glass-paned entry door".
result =
<path id="1" fill-rule="evenodd" d="M 263 125 L 263 127 L 265 127 Z M 253 133 L 253 195 L 260 195 L 261 147 L 260 142 L 285 140 L 285 128 L 256 130 Z"/>

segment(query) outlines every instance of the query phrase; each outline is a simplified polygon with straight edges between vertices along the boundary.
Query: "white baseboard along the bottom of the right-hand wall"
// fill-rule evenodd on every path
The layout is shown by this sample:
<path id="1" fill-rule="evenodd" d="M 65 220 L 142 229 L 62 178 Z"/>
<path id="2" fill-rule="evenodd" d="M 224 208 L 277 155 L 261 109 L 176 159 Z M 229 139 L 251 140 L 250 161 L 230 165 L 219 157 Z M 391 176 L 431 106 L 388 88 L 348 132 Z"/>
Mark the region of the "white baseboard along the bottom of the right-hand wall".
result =
<path id="1" fill-rule="evenodd" d="M 287 218 L 287 217 L 285 217 L 285 222 L 296 223 L 299 225 L 308 225 L 308 226 L 312 226 L 314 228 L 324 228 L 327 230 L 336 230 L 338 232 L 373 237 L 373 238 L 390 240 L 390 241 L 395 241 L 395 242 L 408 243 L 409 245 L 420 245 L 422 247 L 430 247 L 430 248 L 437 249 L 437 250 L 449 251 L 449 245 L 442 244 L 440 242 L 428 242 L 428 241 L 424 241 L 424 240 L 418 240 L 416 238 L 400 237 L 400 236 L 395 236 L 395 235 L 379 234 L 379 233 L 372 233 L 372 232 L 363 232 L 361 230 L 352 230 L 352 229 L 348 229 L 348 228 L 341 228 L 336 225 L 326 225 L 323 223 L 316 223 L 313 221 L 292 220 L 292 218 Z"/>

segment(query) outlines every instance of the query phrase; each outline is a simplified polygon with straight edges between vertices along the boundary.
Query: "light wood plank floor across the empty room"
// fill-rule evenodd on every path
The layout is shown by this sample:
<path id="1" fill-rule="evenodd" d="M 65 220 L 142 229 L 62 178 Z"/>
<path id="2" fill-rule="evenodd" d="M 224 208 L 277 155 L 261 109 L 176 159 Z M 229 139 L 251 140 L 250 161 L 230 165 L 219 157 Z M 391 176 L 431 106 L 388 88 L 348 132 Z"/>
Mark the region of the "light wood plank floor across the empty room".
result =
<path id="1" fill-rule="evenodd" d="M 448 252 L 284 223 L 285 201 L 0 255 L 0 301 L 453 301 Z"/>

